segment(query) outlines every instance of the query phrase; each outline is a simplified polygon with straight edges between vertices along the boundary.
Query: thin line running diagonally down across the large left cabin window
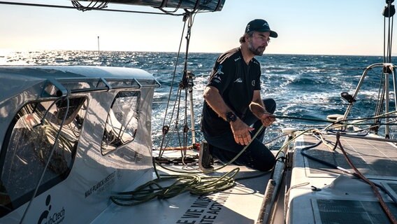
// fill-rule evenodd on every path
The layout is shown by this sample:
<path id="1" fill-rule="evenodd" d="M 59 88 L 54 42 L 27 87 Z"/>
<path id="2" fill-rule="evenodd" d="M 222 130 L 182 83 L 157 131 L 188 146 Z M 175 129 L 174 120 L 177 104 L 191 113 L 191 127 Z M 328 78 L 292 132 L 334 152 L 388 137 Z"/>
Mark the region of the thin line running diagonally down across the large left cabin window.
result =
<path id="1" fill-rule="evenodd" d="M 29 211 L 29 209 L 30 209 L 30 207 L 31 207 L 31 203 L 32 203 L 33 200 L 34 200 L 34 197 L 36 197 L 36 195 L 37 195 L 38 188 L 40 187 L 41 181 L 43 181 L 43 179 L 44 179 L 45 171 L 47 170 L 48 166 L 50 165 L 50 160 L 51 160 L 51 158 L 52 158 L 52 155 L 53 155 L 54 152 L 55 152 L 55 148 L 57 148 L 58 140 L 59 140 L 59 137 L 61 136 L 61 132 L 62 132 L 62 127 L 64 127 L 64 123 L 65 123 L 66 118 L 67 118 L 67 116 L 68 116 L 68 110 L 69 110 L 69 95 L 70 95 L 70 94 L 71 94 L 71 92 L 70 92 L 70 90 L 68 90 L 68 94 L 66 95 L 66 97 L 64 97 L 64 98 L 66 99 L 66 111 L 65 111 L 64 118 L 62 119 L 62 123 L 59 125 L 59 130 L 58 130 L 58 132 L 57 132 L 57 136 L 55 137 L 54 144 L 52 145 L 52 149 L 51 149 L 50 155 L 48 155 L 48 160 L 47 160 L 47 162 L 45 163 L 45 167 L 44 167 L 44 169 L 43 169 L 43 172 L 41 173 L 40 179 L 38 179 L 38 183 L 37 183 L 37 185 L 36 185 L 36 188 L 34 189 L 33 195 L 31 196 L 31 200 L 29 201 L 29 204 L 27 205 L 27 208 L 25 209 L 24 214 L 22 215 L 20 224 L 23 223 L 24 218 L 26 217 L 27 211 Z M 61 100 L 61 99 L 63 99 L 63 97 L 57 99 L 55 102 L 58 102 L 58 101 Z M 54 105 L 54 104 L 52 104 L 52 105 Z M 51 108 L 51 107 L 48 108 L 48 111 L 50 110 L 50 108 Z M 44 118 L 45 118 L 45 116 L 43 116 L 43 119 L 44 119 Z"/>

